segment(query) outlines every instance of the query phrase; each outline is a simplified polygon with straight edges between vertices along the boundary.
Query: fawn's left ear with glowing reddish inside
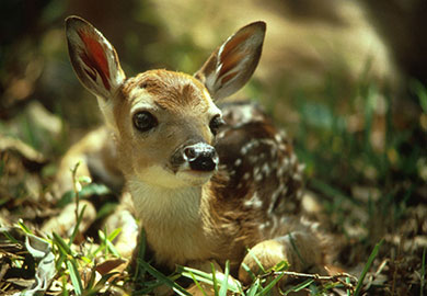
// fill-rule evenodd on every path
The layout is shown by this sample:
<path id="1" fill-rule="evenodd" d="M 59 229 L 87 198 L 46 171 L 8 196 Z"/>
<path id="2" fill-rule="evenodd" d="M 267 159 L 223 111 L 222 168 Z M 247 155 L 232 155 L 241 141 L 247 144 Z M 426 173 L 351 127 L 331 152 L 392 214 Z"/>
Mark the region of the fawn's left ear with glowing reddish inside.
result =
<path id="1" fill-rule="evenodd" d="M 66 20 L 68 52 L 82 84 L 107 100 L 125 80 L 117 53 L 93 25 L 78 16 Z"/>

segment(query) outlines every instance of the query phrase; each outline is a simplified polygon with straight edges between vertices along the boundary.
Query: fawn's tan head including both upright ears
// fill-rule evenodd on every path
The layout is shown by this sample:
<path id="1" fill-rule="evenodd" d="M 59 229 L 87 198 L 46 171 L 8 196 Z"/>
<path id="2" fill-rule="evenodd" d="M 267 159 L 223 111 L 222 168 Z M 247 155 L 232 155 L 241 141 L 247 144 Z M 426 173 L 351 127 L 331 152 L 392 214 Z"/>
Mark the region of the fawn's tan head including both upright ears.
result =
<path id="1" fill-rule="evenodd" d="M 176 189 L 206 183 L 218 167 L 215 136 L 223 123 L 215 102 L 254 72 L 266 25 L 230 36 L 194 75 L 149 70 L 127 78 L 111 43 L 78 16 L 66 20 L 70 59 L 96 95 L 127 179 Z"/>

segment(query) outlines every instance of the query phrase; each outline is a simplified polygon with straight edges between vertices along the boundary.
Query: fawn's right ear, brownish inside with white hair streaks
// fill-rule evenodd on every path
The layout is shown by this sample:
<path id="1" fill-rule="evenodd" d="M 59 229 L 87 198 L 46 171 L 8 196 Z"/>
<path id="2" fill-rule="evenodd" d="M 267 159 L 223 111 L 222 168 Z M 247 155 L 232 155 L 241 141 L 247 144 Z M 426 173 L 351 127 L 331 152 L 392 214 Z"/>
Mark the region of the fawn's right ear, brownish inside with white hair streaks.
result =
<path id="1" fill-rule="evenodd" d="M 258 65 L 266 24 L 251 23 L 215 50 L 195 77 L 205 83 L 215 100 L 240 90 Z"/>

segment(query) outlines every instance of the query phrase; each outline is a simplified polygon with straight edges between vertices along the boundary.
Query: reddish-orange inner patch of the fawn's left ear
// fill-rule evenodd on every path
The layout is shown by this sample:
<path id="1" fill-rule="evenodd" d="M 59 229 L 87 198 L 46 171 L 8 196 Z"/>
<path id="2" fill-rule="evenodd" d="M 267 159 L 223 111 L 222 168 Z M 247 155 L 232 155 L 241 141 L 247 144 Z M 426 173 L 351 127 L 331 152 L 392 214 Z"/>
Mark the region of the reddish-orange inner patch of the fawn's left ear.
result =
<path id="1" fill-rule="evenodd" d="M 104 48 L 102 45 L 91 36 L 90 33 L 83 32 L 82 30 L 78 31 L 78 34 L 82 42 L 84 43 L 84 52 L 80 54 L 80 58 L 83 62 L 93 70 L 92 73 L 86 73 L 95 81 L 96 72 L 101 76 L 104 87 L 109 90 L 109 68 L 108 60 L 105 56 Z"/>

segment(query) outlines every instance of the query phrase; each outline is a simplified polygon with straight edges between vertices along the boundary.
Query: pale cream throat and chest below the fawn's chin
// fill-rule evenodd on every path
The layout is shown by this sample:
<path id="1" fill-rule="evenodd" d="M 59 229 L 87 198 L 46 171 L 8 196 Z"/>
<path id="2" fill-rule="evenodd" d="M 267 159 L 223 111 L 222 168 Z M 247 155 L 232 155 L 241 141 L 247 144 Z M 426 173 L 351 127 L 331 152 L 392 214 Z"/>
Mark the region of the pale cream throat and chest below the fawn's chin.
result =
<path id="1" fill-rule="evenodd" d="M 209 183 L 208 183 L 209 184 Z M 193 260 L 207 260 L 215 250 L 207 185 L 165 189 L 128 181 L 134 207 L 158 263 L 173 269 Z M 215 240 L 214 240 L 215 241 Z"/>

